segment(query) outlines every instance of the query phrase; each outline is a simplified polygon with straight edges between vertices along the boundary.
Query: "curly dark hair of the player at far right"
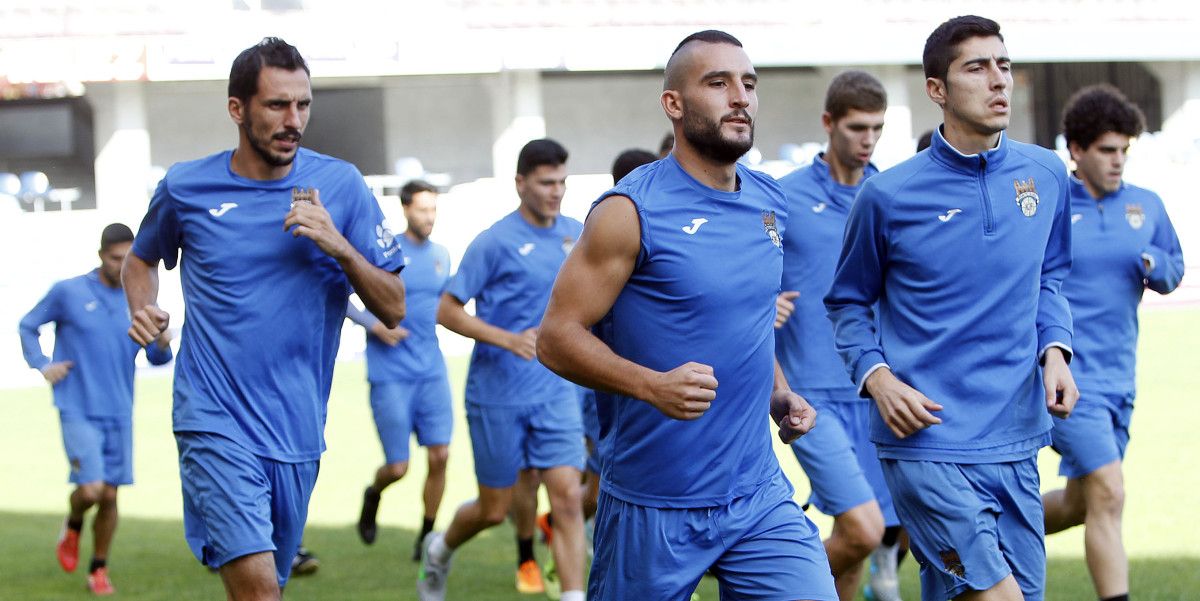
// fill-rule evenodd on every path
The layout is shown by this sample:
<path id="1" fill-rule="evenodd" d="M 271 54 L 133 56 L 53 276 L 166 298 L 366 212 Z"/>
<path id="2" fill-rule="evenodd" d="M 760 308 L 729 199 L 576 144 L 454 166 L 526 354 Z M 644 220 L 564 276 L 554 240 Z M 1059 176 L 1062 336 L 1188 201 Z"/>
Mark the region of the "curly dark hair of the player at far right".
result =
<path id="1" fill-rule="evenodd" d="M 1109 132 L 1130 138 L 1146 130 L 1146 115 L 1121 90 L 1109 84 L 1088 85 L 1070 96 L 1062 110 L 1067 143 L 1088 148 Z"/>

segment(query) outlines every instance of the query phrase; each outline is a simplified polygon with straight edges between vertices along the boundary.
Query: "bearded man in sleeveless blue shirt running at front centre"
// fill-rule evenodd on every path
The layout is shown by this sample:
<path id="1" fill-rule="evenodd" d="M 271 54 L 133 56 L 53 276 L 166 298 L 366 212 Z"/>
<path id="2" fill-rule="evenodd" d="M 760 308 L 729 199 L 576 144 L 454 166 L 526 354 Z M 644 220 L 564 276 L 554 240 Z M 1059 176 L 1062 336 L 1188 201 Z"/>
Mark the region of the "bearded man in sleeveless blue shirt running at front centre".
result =
<path id="1" fill-rule="evenodd" d="M 791 443 L 815 413 L 774 361 L 787 203 L 737 163 L 756 84 L 728 34 L 679 43 L 674 148 L 593 205 L 542 320 L 538 355 L 598 391 L 590 599 L 686 600 L 709 569 L 722 599 L 836 599 L 764 428 Z"/>

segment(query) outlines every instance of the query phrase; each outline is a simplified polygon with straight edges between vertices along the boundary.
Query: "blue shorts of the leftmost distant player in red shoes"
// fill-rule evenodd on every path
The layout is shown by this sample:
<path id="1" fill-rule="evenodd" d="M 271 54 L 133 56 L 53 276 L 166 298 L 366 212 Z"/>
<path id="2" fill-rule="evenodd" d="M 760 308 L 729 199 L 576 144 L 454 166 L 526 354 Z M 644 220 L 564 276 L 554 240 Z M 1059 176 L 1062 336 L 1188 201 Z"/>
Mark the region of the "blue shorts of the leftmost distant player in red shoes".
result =
<path id="1" fill-rule="evenodd" d="M 60 411 L 59 417 L 72 483 L 133 483 L 133 417 L 89 417 L 66 411 Z"/>

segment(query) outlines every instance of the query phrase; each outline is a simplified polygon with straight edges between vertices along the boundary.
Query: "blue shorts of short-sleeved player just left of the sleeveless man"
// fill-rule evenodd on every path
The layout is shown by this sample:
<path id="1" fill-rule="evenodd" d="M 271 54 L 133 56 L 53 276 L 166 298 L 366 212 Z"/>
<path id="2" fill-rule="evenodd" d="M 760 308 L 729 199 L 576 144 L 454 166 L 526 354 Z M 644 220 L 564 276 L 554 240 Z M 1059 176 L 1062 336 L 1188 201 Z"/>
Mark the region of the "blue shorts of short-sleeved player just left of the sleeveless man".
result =
<path id="1" fill-rule="evenodd" d="M 529 405 L 467 402 L 475 477 L 491 488 L 516 483 L 522 469 L 583 469 L 583 426 L 574 398 Z"/>

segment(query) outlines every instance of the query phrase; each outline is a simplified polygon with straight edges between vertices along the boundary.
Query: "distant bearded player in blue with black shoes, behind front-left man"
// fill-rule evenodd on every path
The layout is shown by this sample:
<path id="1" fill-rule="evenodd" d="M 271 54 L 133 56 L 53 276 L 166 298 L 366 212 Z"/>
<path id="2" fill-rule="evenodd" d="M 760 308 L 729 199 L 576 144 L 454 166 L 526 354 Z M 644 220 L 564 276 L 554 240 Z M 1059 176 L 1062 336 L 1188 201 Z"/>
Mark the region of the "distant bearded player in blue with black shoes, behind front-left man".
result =
<path id="1" fill-rule="evenodd" d="M 371 383 L 371 413 L 374 415 L 384 464 L 362 493 L 358 531 L 362 542 L 376 540 L 379 494 L 408 471 L 408 443 L 426 449 L 428 470 L 421 499 L 425 513 L 416 537 L 413 560 L 421 559 L 421 540 L 433 530 L 433 519 L 445 492 L 446 459 L 454 411 L 446 363 L 438 347 L 438 299 L 450 282 L 450 252 L 430 240 L 437 220 L 438 190 L 413 180 L 400 188 L 408 228 L 398 236 L 404 252 L 404 321 L 388 327 L 367 311 L 354 305 L 348 317 L 367 330 L 367 380 Z"/>

